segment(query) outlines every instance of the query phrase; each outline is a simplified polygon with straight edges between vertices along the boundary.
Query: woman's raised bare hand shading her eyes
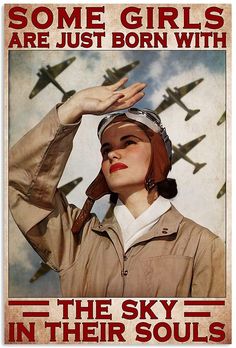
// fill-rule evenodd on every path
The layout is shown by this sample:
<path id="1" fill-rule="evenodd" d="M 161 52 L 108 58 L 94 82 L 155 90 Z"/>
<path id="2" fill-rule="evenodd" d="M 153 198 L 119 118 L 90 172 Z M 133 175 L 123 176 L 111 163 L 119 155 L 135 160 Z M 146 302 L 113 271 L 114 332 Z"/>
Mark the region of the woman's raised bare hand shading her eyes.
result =
<path id="1" fill-rule="evenodd" d="M 91 87 L 77 92 L 58 108 L 61 123 L 76 123 L 84 114 L 101 115 L 131 107 L 143 98 L 146 84 L 137 82 L 119 89 L 127 81 L 128 78 L 124 77 L 110 86 Z"/>

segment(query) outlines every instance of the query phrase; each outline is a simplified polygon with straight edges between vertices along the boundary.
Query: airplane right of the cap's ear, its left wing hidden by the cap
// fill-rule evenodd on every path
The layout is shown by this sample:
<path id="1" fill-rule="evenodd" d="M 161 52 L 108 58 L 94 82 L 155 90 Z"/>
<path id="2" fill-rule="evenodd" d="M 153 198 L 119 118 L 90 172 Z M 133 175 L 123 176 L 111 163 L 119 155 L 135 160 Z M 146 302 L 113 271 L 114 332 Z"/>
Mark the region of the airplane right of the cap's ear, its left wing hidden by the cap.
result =
<path id="1" fill-rule="evenodd" d="M 195 168 L 193 170 L 193 174 L 196 174 L 202 167 L 206 165 L 206 163 L 196 163 L 192 161 L 186 154 L 195 147 L 200 141 L 202 141 L 205 138 L 206 135 L 201 135 L 200 137 L 189 141 L 188 143 L 181 145 L 178 144 L 177 146 L 172 145 L 173 149 L 173 155 L 172 155 L 172 165 L 175 164 L 177 161 L 179 161 L 181 158 L 183 158 L 185 161 L 191 163 Z"/>

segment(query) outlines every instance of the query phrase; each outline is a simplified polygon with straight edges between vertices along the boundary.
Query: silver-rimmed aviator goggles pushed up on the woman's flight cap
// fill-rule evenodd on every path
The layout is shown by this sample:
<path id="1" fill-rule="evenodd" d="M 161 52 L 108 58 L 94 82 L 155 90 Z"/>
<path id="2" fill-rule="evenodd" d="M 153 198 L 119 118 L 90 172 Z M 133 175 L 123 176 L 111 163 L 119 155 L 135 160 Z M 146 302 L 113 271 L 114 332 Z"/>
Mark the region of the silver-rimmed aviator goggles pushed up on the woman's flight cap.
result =
<path id="1" fill-rule="evenodd" d="M 140 122 L 150 128 L 153 132 L 159 133 L 164 141 L 165 148 L 168 154 L 168 157 L 171 161 L 172 157 L 172 144 L 168 134 L 166 133 L 165 127 L 163 127 L 161 123 L 160 117 L 150 109 L 137 109 L 130 108 L 126 112 L 122 113 L 113 113 L 105 116 L 98 125 L 98 138 L 101 140 L 102 133 L 105 128 L 114 121 L 114 119 L 118 116 L 125 115 L 128 119 Z"/>

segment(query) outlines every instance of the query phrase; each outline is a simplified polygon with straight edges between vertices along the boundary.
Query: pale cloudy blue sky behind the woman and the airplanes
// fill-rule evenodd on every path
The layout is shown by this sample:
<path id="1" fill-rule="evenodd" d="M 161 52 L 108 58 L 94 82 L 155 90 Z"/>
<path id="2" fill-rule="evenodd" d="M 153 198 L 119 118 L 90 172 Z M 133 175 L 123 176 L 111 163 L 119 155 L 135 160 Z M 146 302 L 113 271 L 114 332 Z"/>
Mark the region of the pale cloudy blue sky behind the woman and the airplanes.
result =
<path id="1" fill-rule="evenodd" d="M 57 77 L 66 90 L 80 90 L 103 82 L 108 68 L 119 68 L 134 60 L 139 65 L 129 74 L 129 83 L 147 83 L 145 97 L 138 107 L 155 109 L 163 100 L 166 88 L 181 87 L 203 78 L 182 101 L 190 109 L 200 109 L 189 121 L 186 111 L 179 105 L 160 113 L 162 123 L 174 145 L 185 144 L 201 135 L 203 141 L 189 152 L 194 162 L 206 162 L 197 174 L 194 167 L 179 160 L 169 177 L 176 179 L 178 195 L 172 200 L 185 216 L 209 228 L 226 239 L 225 196 L 216 195 L 226 176 L 226 122 L 217 121 L 226 110 L 226 57 L 224 51 L 11 51 L 9 57 L 9 144 L 15 144 L 21 136 L 39 122 L 55 104 L 62 93 L 52 84 L 33 99 L 29 94 L 37 82 L 37 72 L 42 66 L 51 66 L 76 57 L 76 60 Z M 70 203 L 81 207 L 86 199 L 85 190 L 100 168 L 97 124 L 101 117 L 86 115 L 74 141 L 60 185 L 78 176 L 83 181 L 67 196 Z M 89 144 L 89 145 L 88 145 Z M 87 160 L 89 158 L 89 161 Z M 107 198 L 95 204 L 94 211 L 102 218 L 108 208 Z M 50 271 L 35 283 L 29 279 L 40 265 L 40 258 L 21 235 L 9 216 L 9 296 L 54 297 L 60 296 L 58 275 Z M 43 294 L 43 296 L 42 296 Z"/>

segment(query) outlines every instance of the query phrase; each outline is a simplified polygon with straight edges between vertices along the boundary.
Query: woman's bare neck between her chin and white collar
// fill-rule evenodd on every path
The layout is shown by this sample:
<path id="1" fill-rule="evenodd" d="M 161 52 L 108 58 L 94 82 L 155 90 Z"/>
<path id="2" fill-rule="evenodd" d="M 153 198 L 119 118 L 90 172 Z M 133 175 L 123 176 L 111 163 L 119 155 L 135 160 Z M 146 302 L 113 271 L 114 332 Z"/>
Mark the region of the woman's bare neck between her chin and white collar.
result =
<path id="1" fill-rule="evenodd" d="M 156 188 L 148 192 L 145 188 L 135 192 L 119 194 L 119 199 L 129 209 L 135 219 L 141 215 L 157 199 L 158 192 Z"/>

